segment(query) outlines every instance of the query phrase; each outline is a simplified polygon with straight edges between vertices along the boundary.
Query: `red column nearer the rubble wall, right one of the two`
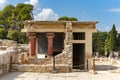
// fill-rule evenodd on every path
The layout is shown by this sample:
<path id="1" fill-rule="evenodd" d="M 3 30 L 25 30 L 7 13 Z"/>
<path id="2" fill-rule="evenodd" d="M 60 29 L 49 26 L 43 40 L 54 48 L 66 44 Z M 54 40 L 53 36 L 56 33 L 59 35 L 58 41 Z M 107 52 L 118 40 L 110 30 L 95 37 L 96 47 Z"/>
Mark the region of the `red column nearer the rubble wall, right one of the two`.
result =
<path id="1" fill-rule="evenodd" d="M 48 38 L 48 55 L 52 56 L 53 55 L 53 38 L 54 38 L 54 33 L 47 33 L 46 37 Z"/>

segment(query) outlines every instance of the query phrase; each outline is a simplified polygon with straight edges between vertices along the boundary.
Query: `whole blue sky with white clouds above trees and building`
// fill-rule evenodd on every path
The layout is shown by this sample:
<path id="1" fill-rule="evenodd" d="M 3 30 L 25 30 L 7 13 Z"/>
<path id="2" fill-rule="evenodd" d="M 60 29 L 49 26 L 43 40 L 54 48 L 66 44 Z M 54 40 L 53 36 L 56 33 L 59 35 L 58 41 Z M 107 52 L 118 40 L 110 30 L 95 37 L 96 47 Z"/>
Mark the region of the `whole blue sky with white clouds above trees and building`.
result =
<path id="1" fill-rule="evenodd" d="M 109 31 L 115 24 L 120 32 L 120 0 L 0 0 L 0 6 L 20 2 L 35 7 L 35 20 L 56 20 L 60 16 L 69 16 L 79 21 L 98 21 L 96 26 L 100 31 Z"/>

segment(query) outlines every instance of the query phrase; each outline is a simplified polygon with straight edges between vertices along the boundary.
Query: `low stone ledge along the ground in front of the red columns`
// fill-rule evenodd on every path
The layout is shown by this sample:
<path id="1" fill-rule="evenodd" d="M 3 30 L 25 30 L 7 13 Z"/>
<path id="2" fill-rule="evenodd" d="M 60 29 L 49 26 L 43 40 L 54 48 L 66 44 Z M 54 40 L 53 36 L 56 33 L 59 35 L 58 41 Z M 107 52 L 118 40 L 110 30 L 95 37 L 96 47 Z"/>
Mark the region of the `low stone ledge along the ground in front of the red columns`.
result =
<path id="1" fill-rule="evenodd" d="M 17 72 L 40 72 L 40 73 L 50 73 L 53 72 L 53 64 L 47 64 L 47 65 L 36 65 L 36 64 L 13 64 L 13 68 L 11 71 L 17 71 Z M 59 64 L 55 66 L 56 70 L 58 72 L 69 72 L 69 66 Z"/>

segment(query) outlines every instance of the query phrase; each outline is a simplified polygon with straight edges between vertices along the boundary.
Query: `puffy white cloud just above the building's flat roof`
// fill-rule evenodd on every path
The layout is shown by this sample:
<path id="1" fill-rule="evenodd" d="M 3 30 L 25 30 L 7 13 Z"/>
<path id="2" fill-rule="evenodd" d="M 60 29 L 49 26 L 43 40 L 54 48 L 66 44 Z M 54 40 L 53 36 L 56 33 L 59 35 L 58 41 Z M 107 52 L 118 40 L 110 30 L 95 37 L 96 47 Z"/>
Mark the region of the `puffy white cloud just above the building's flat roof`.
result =
<path id="1" fill-rule="evenodd" d="M 52 9 L 42 9 L 40 13 L 34 16 L 35 20 L 57 20 L 58 15 Z"/>

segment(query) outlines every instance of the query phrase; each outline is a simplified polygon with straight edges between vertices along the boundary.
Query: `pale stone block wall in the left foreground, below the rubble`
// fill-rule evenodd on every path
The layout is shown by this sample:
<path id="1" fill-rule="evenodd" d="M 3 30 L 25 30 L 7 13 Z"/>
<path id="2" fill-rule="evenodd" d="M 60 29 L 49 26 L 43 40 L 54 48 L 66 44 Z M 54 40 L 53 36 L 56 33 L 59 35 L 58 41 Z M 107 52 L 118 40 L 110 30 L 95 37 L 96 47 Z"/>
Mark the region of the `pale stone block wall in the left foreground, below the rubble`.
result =
<path id="1" fill-rule="evenodd" d="M 0 52 L 0 75 L 10 71 L 10 63 L 15 63 L 17 60 L 16 54 L 17 51 L 6 51 L 4 53 Z"/>

